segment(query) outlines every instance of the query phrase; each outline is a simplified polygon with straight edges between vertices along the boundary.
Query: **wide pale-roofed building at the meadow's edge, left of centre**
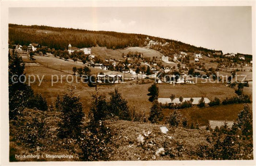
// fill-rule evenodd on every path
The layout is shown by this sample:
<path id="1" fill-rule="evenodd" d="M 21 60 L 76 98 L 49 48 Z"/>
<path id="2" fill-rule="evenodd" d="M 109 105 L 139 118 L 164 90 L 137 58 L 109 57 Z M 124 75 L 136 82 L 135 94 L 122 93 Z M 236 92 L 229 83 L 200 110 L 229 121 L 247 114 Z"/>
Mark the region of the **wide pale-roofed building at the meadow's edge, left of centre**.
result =
<path id="1" fill-rule="evenodd" d="M 117 75 L 99 75 L 97 76 L 97 82 L 98 83 L 122 83 L 123 77 L 121 74 Z"/>

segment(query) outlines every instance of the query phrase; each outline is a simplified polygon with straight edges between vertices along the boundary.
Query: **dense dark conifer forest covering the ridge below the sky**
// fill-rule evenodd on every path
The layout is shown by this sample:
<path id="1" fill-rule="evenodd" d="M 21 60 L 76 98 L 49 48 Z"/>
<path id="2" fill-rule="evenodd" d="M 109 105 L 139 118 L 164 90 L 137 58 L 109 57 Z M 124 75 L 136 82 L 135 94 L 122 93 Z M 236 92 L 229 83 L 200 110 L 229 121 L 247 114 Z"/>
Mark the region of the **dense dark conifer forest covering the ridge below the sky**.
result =
<path id="1" fill-rule="evenodd" d="M 162 44 L 168 42 L 169 44 L 166 47 L 171 48 L 175 52 L 215 52 L 203 47 L 196 47 L 179 41 L 144 34 L 9 24 L 9 44 L 28 45 L 30 43 L 38 43 L 56 50 L 67 49 L 70 43 L 78 48 L 102 46 L 110 49 L 120 49 L 129 46 L 146 46 L 149 40 L 161 42 Z"/>

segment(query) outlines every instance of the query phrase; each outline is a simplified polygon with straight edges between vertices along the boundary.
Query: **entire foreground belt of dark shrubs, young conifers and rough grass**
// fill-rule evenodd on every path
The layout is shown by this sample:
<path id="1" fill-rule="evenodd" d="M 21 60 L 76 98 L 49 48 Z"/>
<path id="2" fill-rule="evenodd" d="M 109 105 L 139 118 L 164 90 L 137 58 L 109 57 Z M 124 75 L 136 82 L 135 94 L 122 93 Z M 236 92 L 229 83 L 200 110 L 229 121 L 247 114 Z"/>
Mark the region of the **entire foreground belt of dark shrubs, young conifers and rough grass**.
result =
<path id="1" fill-rule="evenodd" d="M 231 129 L 224 123 L 214 130 L 210 127 L 202 130 L 177 110 L 170 111 L 165 116 L 166 124 L 159 125 L 164 114 L 157 102 L 155 84 L 147 89 L 152 101 L 148 116 L 142 109 L 129 106 L 118 89 L 111 90 L 107 97 L 96 88 L 90 95 L 91 101 L 83 105 L 71 86 L 68 93 L 57 96 L 55 103 L 48 105 L 41 94 L 35 94 L 23 81 L 13 82 L 13 78 L 16 81 L 23 74 L 23 61 L 12 52 L 9 54 L 10 161 L 253 159 L 252 110 L 247 104 Z M 241 85 L 237 90 L 242 96 Z M 204 107 L 202 103 L 198 107 Z M 219 100 L 214 100 L 216 103 Z M 83 106 L 89 109 L 87 114 Z M 160 130 L 163 126 L 168 128 L 166 133 Z M 73 157 L 18 159 L 15 154 Z"/>

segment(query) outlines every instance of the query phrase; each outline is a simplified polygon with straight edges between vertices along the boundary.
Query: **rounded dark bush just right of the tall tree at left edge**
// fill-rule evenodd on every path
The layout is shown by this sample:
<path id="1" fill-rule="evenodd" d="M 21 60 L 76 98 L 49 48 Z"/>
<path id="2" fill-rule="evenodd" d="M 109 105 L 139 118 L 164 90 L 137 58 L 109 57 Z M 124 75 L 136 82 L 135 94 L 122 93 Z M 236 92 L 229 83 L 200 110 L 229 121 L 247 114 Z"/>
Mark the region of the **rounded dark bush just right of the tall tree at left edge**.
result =
<path id="1" fill-rule="evenodd" d="M 41 94 L 30 97 L 27 101 L 27 107 L 31 109 L 37 108 L 41 111 L 47 111 L 48 109 L 47 101 Z"/>

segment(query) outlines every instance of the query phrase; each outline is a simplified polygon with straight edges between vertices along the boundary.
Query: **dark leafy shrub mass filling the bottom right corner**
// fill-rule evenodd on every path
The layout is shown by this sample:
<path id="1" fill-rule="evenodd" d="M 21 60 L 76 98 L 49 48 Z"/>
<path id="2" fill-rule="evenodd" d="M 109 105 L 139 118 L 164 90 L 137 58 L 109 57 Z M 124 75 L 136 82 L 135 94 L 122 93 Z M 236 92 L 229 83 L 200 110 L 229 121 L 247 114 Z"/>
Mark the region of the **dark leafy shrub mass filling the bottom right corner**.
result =
<path id="1" fill-rule="evenodd" d="M 200 145 L 197 155 L 214 160 L 253 159 L 252 136 L 252 110 L 244 105 L 232 129 L 228 129 L 227 123 L 220 128 L 217 126 L 207 138 L 210 145 Z"/>

